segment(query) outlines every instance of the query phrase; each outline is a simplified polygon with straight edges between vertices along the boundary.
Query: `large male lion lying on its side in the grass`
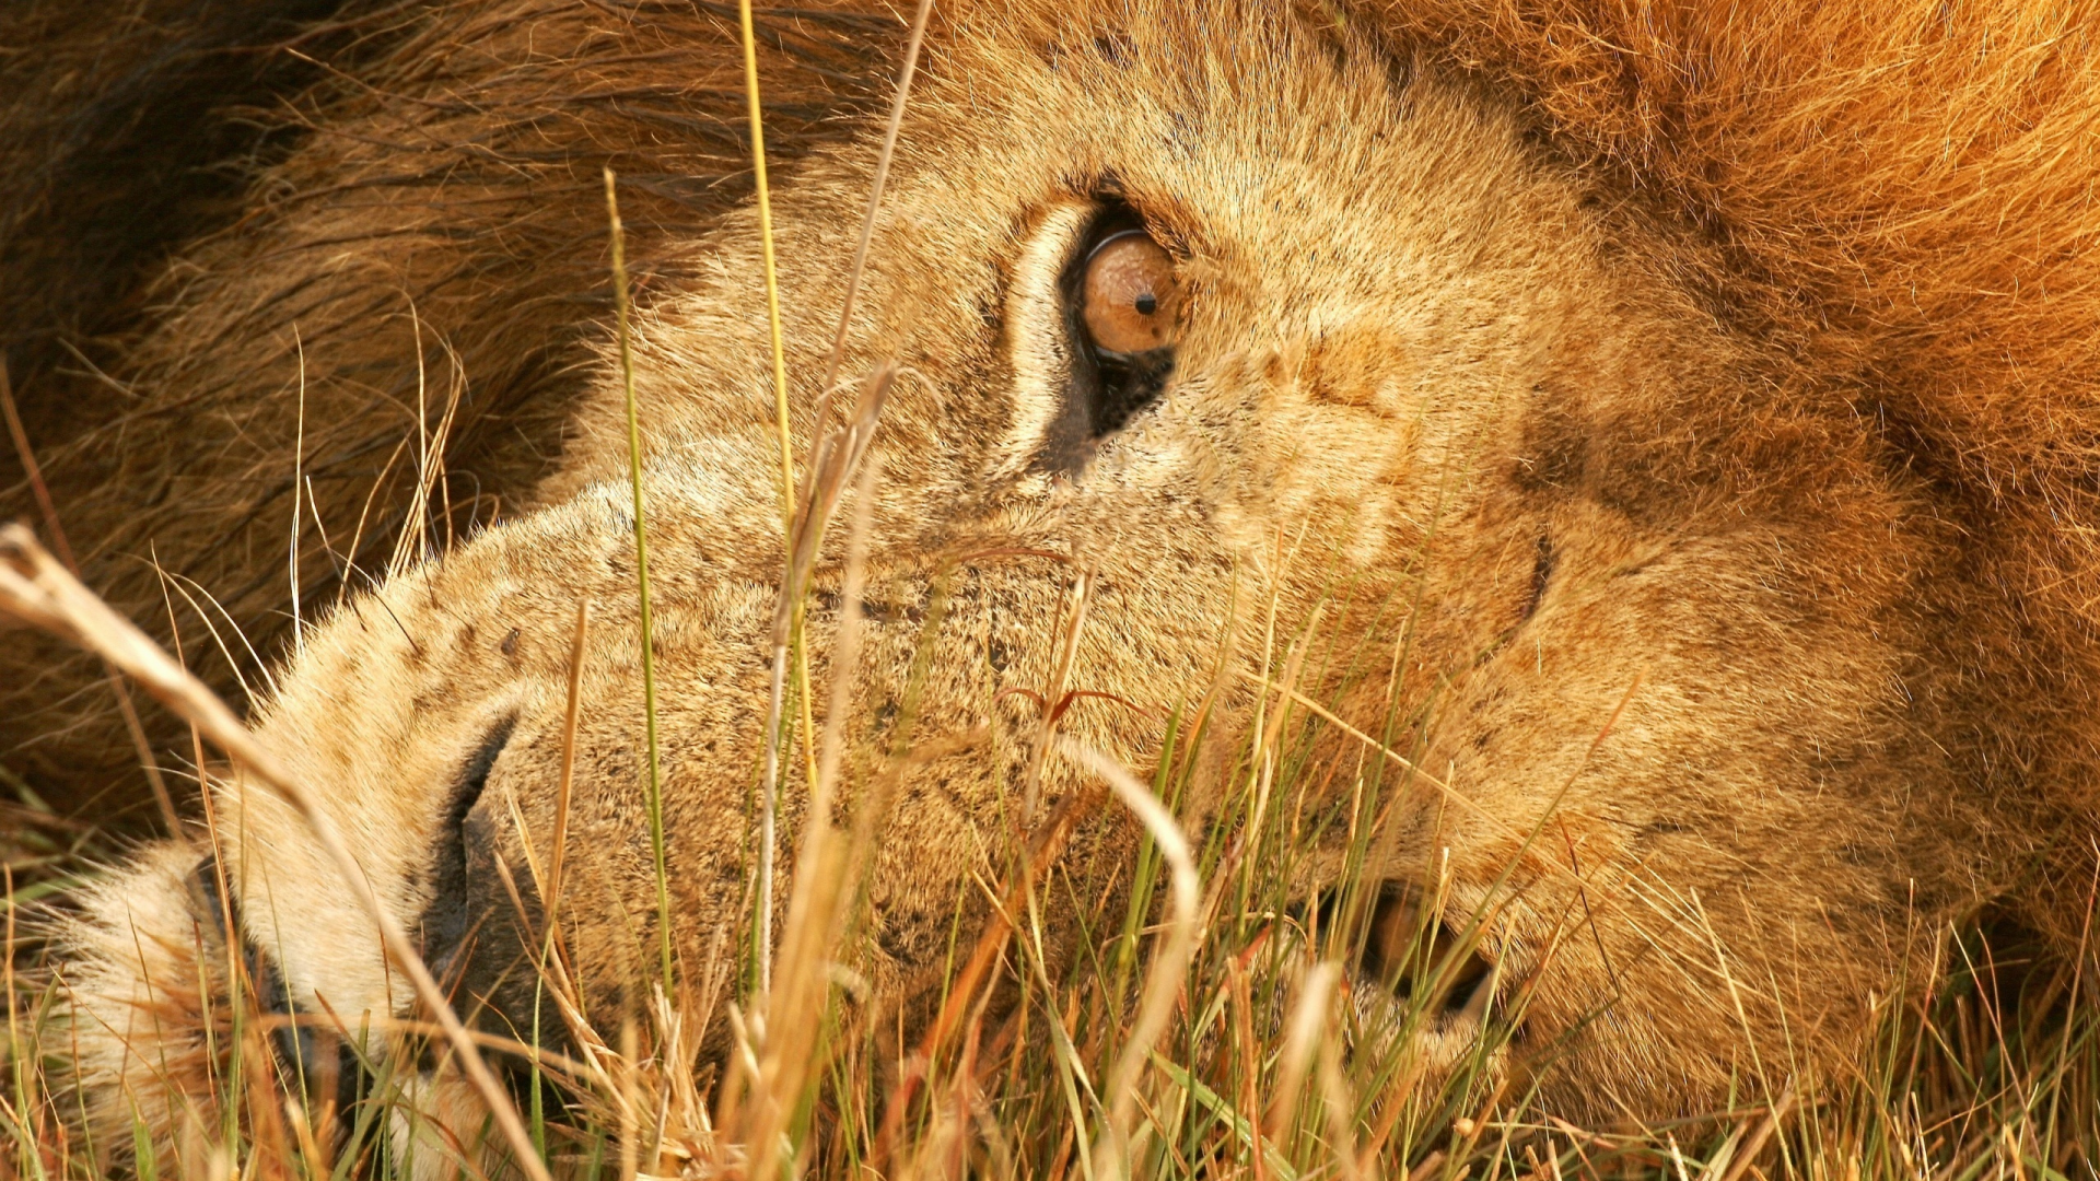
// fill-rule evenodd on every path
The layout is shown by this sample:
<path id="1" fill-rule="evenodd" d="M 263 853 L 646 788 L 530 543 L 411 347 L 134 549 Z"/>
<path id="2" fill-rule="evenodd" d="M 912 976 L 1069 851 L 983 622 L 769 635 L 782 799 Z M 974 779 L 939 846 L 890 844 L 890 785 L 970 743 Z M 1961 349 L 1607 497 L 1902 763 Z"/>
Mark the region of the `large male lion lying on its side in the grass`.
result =
<path id="1" fill-rule="evenodd" d="M 109 122 L 136 76 L 195 86 L 124 74 L 195 34 L 181 6 L 124 34 L 147 48 L 111 50 L 116 78 L 74 67 L 116 34 L 42 19 L 19 25 L 52 50 L 17 126 L 92 130 L 55 111 Z M 242 76 L 279 107 L 244 109 L 269 130 L 242 187 L 162 202 L 174 229 L 136 252 L 168 261 L 65 311 L 88 345 L 21 330 L 19 397 L 90 582 L 248 693 L 424 956 L 519 1030 L 556 824 L 580 988 L 617 1007 L 657 944 L 704 965 L 750 939 L 769 757 L 781 832 L 808 822 L 792 708 L 766 738 L 771 248 L 796 446 L 886 382 L 880 477 L 840 509 L 861 555 L 825 536 L 800 633 L 815 725 L 838 702 L 872 750 L 922 750 L 848 773 L 838 805 L 880 809 L 853 965 L 878 1011 L 926 1021 L 958 906 L 987 920 L 974 876 L 1094 784 L 1031 746 L 1048 685 L 1082 691 L 1060 733 L 1140 778 L 1170 710 L 1247 733 L 1304 700 L 1348 767 L 1325 790 L 1365 767 L 1392 786 L 1361 866 L 1304 870 L 1306 899 L 1342 872 L 1380 899 L 1359 983 L 1405 988 L 1394 931 L 1434 893 L 1474 969 L 1420 1038 L 1449 1059 L 1522 988 L 1495 1068 L 1548 1110 L 1690 1114 L 1854 1053 L 1934 969 L 1932 933 L 1984 906 L 2079 954 L 2096 19 L 943 4 L 884 156 L 905 25 L 808 4 L 758 38 L 762 227 L 733 6 L 286 4 L 284 27 L 208 29 L 302 63 Z M 13 183 L 17 271 L 63 271 L 52 235 L 113 216 L 65 208 L 63 181 L 134 151 L 97 134 L 52 132 L 63 166 Z M 29 511 L 29 481 L 10 496 Z M 848 567 L 863 639 L 838 670 Z M 6 643 L 40 702 L 8 742 L 48 782 L 107 782 L 132 744 L 101 670 Z M 1289 683 L 1294 643 L 1344 658 Z M 141 1013 L 195 979 L 197 931 L 242 944 L 286 1013 L 414 1013 L 304 822 L 239 767 L 200 771 L 216 853 L 151 843 L 59 929 L 103 1141 L 195 1118 L 197 1072 L 168 1063 L 200 1061 L 208 1015 Z M 1231 790 L 1184 824 L 1241 815 Z M 1113 889 L 1132 855 L 1100 807 L 1065 859 Z M 1069 916 L 1052 929 L 1069 944 Z M 428 1105 L 479 1118 L 458 1080 Z"/>

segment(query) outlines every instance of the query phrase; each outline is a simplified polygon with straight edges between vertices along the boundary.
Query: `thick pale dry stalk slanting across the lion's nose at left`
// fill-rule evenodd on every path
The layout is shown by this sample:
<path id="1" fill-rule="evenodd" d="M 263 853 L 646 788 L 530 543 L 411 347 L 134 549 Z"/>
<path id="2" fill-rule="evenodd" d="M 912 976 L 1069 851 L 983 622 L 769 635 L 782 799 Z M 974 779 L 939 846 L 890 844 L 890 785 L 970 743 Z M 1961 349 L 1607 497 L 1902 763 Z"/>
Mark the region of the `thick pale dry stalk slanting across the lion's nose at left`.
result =
<path id="1" fill-rule="evenodd" d="M 168 658 L 145 633 L 111 612 L 92 590 L 67 574 L 44 546 L 36 544 L 29 530 L 21 525 L 0 525 L 0 612 L 74 641 L 139 681 L 162 704 L 195 725 L 235 763 L 298 811 L 344 880 L 351 883 L 351 893 L 357 895 L 357 902 L 372 916 L 374 925 L 378 925 L 386 954 L 407 973 L 416 986 L 416 996 L 422 998 L 439 1025 L 443 1025 L 445 1040 L 452 1042 L 468 1080 L 472 1080 L 475 1091 L 489 1105 L 519 1166 L 531 1181 L 552 1181 L 546 1162 L 533 1152 L 531 1137 L 517 1107 L 510 1103 L 510 1095 L 496 1080 L 496 1074 L 489 1072 L 466 1025 L 460 1023 L 460 1015 L 452 1011 L 445 992 L 430 977 L 430 969 L 416 954 L 416 946 L 410 944 L 401 923 L 372 891 L 363 866 L 351 855 L 349 845 L 342 843 L 342 834 L 328 813 L 321 811 L 313 792 L 292 778 L 292 771 L 233 717 L 233 710 L 225 702 Z"/>

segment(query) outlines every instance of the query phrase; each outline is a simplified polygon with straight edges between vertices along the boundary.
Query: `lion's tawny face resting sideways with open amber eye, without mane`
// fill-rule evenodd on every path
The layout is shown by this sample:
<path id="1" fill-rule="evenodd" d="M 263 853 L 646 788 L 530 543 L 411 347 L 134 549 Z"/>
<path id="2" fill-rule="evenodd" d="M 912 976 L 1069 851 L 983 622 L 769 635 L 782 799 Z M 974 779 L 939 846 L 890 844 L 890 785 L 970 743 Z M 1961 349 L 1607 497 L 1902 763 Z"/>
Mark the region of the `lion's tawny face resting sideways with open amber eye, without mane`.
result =
<path id="1" fill-rule="evenodd" d="M 1844 408 L 1651 271 L 1661 231 L 1590 202 L 1512 111 L 1348 40 L 962 27 L 911 109 L 842 368 L 901 366 L 848 799 L 874 752 L 926 752 L 888 801 L 878 986 L 939 971 L 956 899 L 1031 820 L 1084 574 L 1067 687 L 1096 696 L 1060 727 L 1138 769 L 1178 704 L 1216 693 L 1245 725 L 1250 677 L 1281 679 L 1321 605 L 1298 689 L 1390 754 L 1329 729 L 1342 769 L 1310 782 L 1346 794 L 1384 761 L 1367 872 L 1483 918 L 1483 988 L 1529 996 L 1518 1053 L 1567 1057 L 1569 1103 L 1697 1101 L 1730 1070 L 1783 1074 L 1749 1047 L 1856 1028 L 1915 954 L 1907 914 L 1959 893 L 1966 820 L 1905 803 L 1949 796 L 1930 731 L 1953 706 L 1911 664 L 1938 551 Z M 775 195 L 798 450 L 872 160 Z M 634 340 L 691 971 L 750 914 L 781 572 L 754 225 L 693 244 L 691 290 L 643 292 Z M 403 918 L 447 954 L 477 931 L 468 979 L 498 1004 L 514 939 L 489 916 L 538 908 L 550 872 L 586 601 L 561 906 L 601 988 L 651 946 L 624 464 L 607 364 L 544 506 L 309 633 L 267 717 Z M 819 727 L 844 532 L 808 607 Z M 1082 782 L 1052 761 L 1042 796 Z M 1245 790 L 1216 782 L 1208 807 Z M 288 815 L 246 809 L 248 889 L 273 899 L 246 914 L 294 992 L 384 1004 L 349 893 L 304 885 L 328 872 Z M 1088 855 L 1113 874 L 1126 845 L 1102 830 Z M 271 927 L 294 895 L 300 923 Z M 1464 1000 L 1424 1036 L 1462 1042 L 1483 1009 Z"/>

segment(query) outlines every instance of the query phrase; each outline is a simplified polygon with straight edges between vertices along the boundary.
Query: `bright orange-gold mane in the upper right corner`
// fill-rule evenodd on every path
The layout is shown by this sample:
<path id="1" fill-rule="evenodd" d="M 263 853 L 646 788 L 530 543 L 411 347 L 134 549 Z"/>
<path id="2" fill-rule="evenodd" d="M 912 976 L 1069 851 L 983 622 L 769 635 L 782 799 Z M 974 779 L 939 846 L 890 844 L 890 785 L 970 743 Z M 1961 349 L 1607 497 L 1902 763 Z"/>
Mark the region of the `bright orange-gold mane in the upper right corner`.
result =
<path id="1" fill-rule="evenodd" d="M 1844 397 L 2020 601 L 1966 675 L 2073 748 L 2100 721 L 2100 4 L 1380 0 L 1428 59 L 1527 97 L 1556 151 L 1678 223 L 1716 315 Z M 2024 662 L 2024 668 L 2022 668 Z M 2022 698 L 2024 696 L 2024 698 Z M 2083 880 L 2083 874 L 2079 874 Z"/>

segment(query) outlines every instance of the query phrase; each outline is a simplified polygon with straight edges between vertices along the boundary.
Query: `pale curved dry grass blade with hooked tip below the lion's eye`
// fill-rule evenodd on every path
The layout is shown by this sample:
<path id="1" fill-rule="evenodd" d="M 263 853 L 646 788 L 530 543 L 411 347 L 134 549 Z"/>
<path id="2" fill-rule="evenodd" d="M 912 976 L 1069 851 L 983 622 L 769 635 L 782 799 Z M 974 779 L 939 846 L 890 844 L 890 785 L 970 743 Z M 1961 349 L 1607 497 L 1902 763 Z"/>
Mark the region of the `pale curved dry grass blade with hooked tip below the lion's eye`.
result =
<path id="1" fill-rule="evenodd" d="M 1172 870 L 1174 918 L 1168 927 L 1168 941 L 1153 960 L 1144 977 L 1144 1000 L 1138 1004 L 1138 1019 L 1130 1025 L 1130 1040 L 1117 1055 L 1109 1072 L 1109 1126 L 1094 1141 L 1094 1177 L 1130 1177 L 1130 1120 L 1138 1107 L 1138 1072 L 1144 1070 L 1153 1053 L 1153 1042 L 1166 1032 L 1174 1015 L 1174 998 L 1189 975 L 1189 960 L 1195 956 L 1197 908 L 1203 902 L 1203 883 L 1195 872 L 1195 857 L 1189 853 L 1189 836 L 1182 834 L 1174 813 L 1159 796 L 1140 784 L 1130 771 L 1119 767 L 1098 750 L 1073 740 L 1058 742 L 1058 754 L 1100 775 L 1134 811 L 1153 834 Z"/>

